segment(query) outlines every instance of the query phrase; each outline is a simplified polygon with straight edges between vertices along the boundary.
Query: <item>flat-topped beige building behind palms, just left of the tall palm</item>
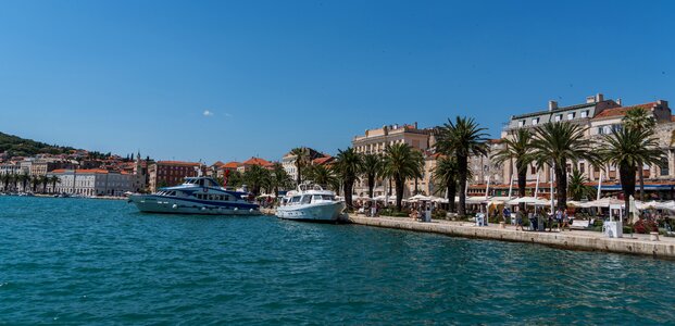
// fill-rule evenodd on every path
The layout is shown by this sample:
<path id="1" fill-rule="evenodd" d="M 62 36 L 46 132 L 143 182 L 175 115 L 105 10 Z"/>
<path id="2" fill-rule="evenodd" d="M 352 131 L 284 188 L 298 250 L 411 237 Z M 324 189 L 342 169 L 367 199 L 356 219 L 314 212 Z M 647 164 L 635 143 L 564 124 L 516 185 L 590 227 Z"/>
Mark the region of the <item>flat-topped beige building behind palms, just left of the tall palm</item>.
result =
<path id="1" fill-rule="evenodd" d="M 417 128 L 417 123 L 412 125 L 389 125 L 382 128 L 365 130 L 365 135 L 357 136 L 351 141 L 352 148 L 358 153 L 363 154 L 382 154 L 385 152 L 387 146 L 395 143 L 408 143 L 412 148 L 415 148 L 423 153 L 428 151 L 434 145 L 434 138 L 430 129 Z M 403 198 L 410 197 L 415 191 L 426 192 L 429 191 L 429 173 L 426 168 L 424 176 L 420 179 L 408 180 L 404 188 Z M 393 185 L 391 185 L 393 186 Z M 376 180 L 373 189 L 373 196 L 386 195 L 389 191 L 389 183 L 387 180 Z M 358 196 L 368 195 L 367 180 L 361 178 L 360 181 L 354 184 L 354 193 Z M 391 195 L 396 196 L 395 189 L 391 189 Z"/>

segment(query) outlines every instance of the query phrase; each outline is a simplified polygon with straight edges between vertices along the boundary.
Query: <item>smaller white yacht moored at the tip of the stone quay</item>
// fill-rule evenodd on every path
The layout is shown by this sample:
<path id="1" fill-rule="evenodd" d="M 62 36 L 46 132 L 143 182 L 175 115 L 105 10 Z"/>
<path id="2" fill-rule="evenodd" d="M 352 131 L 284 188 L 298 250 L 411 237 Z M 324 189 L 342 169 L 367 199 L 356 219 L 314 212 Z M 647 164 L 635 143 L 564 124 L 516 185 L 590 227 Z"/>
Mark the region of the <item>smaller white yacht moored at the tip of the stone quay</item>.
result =
<path id="1" fill-rule="evenodd" d="M 335 192 L 318 185 L 300 185 L 297 191 L 288 191 L 276 209 L 276 216 L 286 220 L 337 222 L 345 211 L 345 202 Z"/>

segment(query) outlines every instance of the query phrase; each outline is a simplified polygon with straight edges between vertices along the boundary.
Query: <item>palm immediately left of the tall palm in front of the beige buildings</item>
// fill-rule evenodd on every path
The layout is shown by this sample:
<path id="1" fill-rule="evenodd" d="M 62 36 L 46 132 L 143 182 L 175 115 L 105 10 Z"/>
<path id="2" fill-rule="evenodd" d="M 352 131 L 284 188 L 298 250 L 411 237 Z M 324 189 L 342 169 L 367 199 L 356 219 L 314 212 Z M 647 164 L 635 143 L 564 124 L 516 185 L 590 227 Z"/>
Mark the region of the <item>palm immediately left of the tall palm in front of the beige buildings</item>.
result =
<path id="1" fill-rule="evenodd" d="M 397 142 L 385 149 L 383 175 L 393 179 L 396 187 L 396 209 L 401 211 L 403 187 L 410 178 L 421 178 L 424 168 L 422 153 L 408 143 Z"/>

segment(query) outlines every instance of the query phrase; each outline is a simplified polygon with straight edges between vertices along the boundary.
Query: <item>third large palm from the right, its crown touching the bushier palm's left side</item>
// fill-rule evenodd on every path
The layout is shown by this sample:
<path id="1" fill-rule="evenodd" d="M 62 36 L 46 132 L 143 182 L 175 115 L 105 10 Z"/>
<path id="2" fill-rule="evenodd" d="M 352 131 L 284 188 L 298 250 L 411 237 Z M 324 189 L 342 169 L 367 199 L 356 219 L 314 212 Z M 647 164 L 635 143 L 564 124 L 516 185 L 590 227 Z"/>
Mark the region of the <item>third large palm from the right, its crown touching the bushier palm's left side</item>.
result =
<path id="1" fill-rule="evenodd" d="M 495 163 L 501 164 L 505 161 L 511 162 L 511 170 L 513 171 L 513 161 L 515 160 L 515 171 L 518 177 L 518 197 L 525 197 L 527 190 L 527 166 L 532 163 L 532 142 L 533 136 L 528 129 L 517 129 L 513 139 L 504 138 L 502 141 L 504 147 L 498 151 L 493 159 Z M 525 209 L 525 204 L 521 205 L 521 209 Z"/>

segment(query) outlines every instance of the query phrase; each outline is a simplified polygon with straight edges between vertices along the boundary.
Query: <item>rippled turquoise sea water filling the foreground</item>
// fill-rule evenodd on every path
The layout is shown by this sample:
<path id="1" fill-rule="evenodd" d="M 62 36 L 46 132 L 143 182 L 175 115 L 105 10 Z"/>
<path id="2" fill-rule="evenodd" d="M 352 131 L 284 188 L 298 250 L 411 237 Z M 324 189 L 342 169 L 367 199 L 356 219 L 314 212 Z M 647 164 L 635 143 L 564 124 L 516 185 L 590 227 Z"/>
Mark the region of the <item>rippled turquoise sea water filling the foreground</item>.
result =
<path id="1" fill-rule="evenodd" d="M 660 324 L 675 262 L 0 197 L 0 324 Z"/>

